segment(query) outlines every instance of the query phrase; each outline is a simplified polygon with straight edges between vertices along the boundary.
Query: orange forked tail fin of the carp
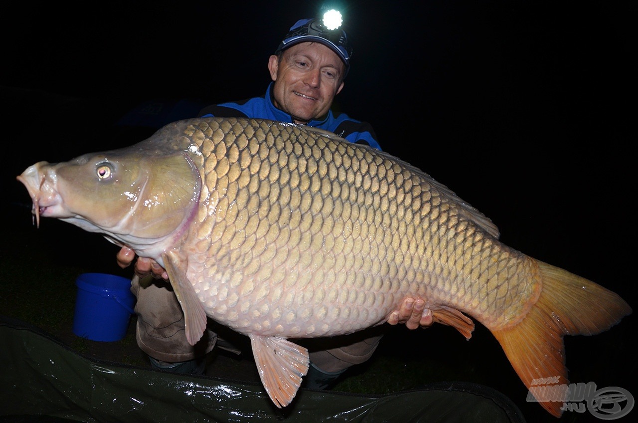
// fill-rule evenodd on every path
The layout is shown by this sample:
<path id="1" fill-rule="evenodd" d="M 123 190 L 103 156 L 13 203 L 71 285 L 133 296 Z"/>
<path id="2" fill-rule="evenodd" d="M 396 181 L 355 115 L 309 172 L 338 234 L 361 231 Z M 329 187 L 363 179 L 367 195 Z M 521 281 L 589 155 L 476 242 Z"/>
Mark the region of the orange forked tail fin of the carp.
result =
<path id="1" fill-rule="evenodd" d="M 552 415 L 560 417 L 567 394 L 564 335 L 595 335 L 632 309 L 620 296 L 556 266 L 538 261 L 542 292 L 527 316 L 493 334 L 525 386 Z M 560 385 L 554 387 L 554 385 Z M 564 390 L 561 390 L 563 389 Z"/>

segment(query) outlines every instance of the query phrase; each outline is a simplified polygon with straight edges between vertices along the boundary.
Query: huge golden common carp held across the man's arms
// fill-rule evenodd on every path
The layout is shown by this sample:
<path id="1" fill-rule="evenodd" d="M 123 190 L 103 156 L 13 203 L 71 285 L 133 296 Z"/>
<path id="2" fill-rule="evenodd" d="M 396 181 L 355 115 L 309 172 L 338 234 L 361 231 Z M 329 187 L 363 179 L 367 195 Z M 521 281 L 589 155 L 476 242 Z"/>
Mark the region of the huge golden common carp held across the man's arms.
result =
<path id="1" fill-rule="evenodd" d="M 468 339 L 468 316 L 489 328 L 528 388 L 568 384 L 563 335 L 597 334 L 632 312 L 503 245 L 491 220 L 419 169 L 300 125 L 178 121 L 18 179 L 38 224 L 56 217 L 165 267 L 191 344 L 207 316 L 248 335 L 280 407 L 308 370 L 308 352 L 288 339 L 378 325 L 405 296 L 427 298 L 435 321 Z M 561 401 L 541 404 L 561 414 Z"/>

